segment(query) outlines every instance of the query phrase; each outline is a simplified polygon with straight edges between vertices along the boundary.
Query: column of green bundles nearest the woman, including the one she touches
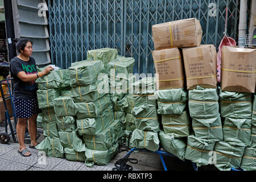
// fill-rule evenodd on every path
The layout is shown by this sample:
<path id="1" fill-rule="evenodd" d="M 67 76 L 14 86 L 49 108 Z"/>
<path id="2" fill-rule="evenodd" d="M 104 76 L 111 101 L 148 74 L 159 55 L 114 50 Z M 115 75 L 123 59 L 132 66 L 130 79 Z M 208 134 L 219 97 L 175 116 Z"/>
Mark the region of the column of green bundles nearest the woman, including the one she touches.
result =
<path id="1" fill-rule="evenodd" d="M 55 115 L 54 100 L 61 97 L 61 92 L 69 90 L 70 77 L 68 70 L 59 68 L 57 71 L 51 71 L 47 75 L 36 80 L 39 86 L 37 91 L 39 109 L 42 113 L 38 120 L 43 128 L 43 134 L 46 137 L 36 148 L 46 152 L 47 156 L 64 157 L 64 148 L 61 146 L 59 131 L 57 126 L 57 116 Z M 56 113 L 59 110 L 56 110 Z M 42 116 L 42 119 L 40 117 Z"/>

